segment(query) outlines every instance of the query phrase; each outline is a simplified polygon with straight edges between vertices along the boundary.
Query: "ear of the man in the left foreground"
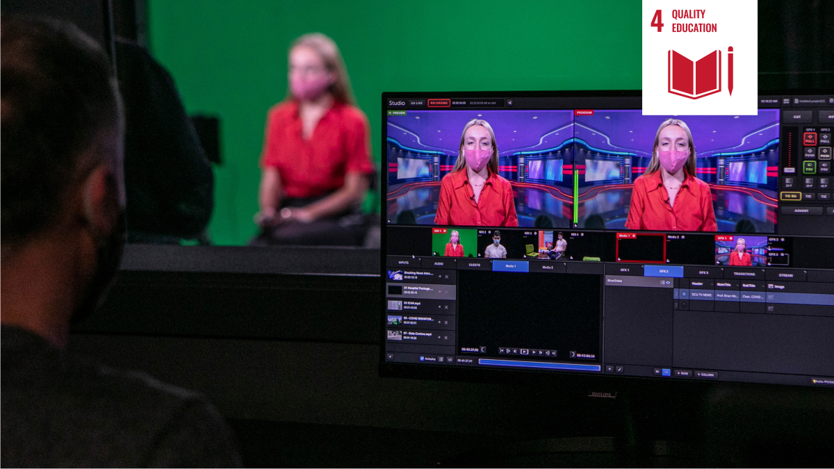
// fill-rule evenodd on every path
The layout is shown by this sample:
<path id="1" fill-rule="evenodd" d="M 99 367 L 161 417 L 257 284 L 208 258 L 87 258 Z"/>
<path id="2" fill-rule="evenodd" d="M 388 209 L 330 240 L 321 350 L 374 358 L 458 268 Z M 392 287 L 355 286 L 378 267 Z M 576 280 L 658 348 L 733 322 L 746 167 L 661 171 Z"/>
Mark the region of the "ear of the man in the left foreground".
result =
<path id="1" fill-rule="evenodd" d="M 106 239 L 117 229 L 118 187 L 108 164 L 99 164 L 83 183 L 83 217 L 93 239 Z"/>

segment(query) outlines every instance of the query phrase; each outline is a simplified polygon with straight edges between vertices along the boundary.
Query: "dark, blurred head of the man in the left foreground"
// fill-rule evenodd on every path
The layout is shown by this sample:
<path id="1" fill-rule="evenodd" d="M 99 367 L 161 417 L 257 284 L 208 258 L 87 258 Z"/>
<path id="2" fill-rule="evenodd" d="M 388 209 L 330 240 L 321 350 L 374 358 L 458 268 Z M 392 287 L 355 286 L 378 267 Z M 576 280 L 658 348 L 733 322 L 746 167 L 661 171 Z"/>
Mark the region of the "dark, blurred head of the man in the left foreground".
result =
<path id="1" fill-rule="evenodd" d="M 3 324 L 60 345 L 48 324 L 91 310 L 121 254 L 121 98 L 108 56 L 72 25 L 3 18 L 0 47 Z M 55 304 L 23 302 L 48 282 L 63 282 Z M 38 315 L 51 319 L 29 324 Z"/>

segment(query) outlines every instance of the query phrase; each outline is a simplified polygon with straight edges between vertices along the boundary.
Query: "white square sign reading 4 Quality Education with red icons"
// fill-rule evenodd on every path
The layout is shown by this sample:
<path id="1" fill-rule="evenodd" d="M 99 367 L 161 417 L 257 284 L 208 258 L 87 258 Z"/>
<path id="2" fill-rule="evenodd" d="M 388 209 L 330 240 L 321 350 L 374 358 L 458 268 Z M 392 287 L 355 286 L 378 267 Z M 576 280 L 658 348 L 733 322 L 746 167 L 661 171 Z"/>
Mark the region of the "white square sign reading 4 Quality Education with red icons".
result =
<path id="1" fill-rule="evenodd" d="M 756 115 L 756 2 L 644 0 L 643 114 Z"/>

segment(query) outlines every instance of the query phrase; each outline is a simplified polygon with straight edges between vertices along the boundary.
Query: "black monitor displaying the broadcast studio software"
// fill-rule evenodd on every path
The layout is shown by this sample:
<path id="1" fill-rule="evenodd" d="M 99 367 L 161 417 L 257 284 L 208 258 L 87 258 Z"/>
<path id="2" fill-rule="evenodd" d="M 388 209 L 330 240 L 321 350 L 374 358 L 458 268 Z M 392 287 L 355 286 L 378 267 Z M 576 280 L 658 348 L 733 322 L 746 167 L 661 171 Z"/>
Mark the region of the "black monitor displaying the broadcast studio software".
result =
<path id="1" fill-rule="evenodd" d="M 834 96 L 383 109 L 385 363 L 834 386 Z"/>

